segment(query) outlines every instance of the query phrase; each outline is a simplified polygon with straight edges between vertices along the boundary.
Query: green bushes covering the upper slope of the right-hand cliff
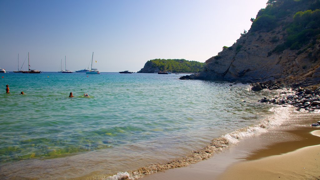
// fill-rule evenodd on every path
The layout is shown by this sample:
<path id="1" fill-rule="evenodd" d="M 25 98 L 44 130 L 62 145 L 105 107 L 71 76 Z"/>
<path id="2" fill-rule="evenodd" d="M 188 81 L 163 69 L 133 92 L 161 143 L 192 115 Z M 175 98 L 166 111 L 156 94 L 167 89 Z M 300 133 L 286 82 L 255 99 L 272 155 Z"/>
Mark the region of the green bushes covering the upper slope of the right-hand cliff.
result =
<path id="1" fill-rule="evenodd" d="M 311 5 L 306 5 L 304 11 L 295 9 L 310 2 Z M 252 32 L 269 32 L 279 26 L 281 20 L 289 19 L 282 33 L 285 41 L 277 45 L 273 53 L 281 53 L 286 49 L 300 50 L 307 44 L 309 47 L 316 44 L 316 39 L 320 38 L 319 0 L 269 0 L 267 4 L 265 9 L 258 12 L 257 19 L 253 20 Z M 299 53 L 303 51 L 301 49 Z"/>

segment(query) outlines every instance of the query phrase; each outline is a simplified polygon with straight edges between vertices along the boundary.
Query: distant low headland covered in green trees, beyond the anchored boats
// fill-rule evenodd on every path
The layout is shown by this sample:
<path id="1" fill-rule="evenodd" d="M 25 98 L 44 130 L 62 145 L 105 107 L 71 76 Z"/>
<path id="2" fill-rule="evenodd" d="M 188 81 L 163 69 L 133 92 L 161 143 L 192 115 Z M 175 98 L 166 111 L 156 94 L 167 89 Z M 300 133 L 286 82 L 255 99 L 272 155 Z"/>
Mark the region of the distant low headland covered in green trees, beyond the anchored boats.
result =
<path id="1" fill-rule="evenodd" d="M 144 65 L 140 73 L 153 73 L 159 71 L 172 72 L 200 72 L 204 67 L 204 62 L 187 61 L 185 59 L 154 59 L 149 60 Z"/>

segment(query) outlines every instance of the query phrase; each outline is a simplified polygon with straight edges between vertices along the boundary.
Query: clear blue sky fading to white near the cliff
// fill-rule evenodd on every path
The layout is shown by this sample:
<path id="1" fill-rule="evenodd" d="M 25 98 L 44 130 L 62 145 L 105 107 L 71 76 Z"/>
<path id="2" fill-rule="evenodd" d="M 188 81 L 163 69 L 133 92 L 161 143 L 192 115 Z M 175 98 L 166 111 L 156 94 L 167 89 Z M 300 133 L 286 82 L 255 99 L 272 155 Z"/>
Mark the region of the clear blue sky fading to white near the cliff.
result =
<path id="1" fill-rule="evenodd" d="M 139 71 L 152 59 L 205 62 L 231 46 L 267 0 L 0 0 L 6 71 Z M 97 61 L 97 62 L 95 62 Z M 90 66 L 89 66 L 90 65 Z M 63 67 L 65 69 L 65 67 Z"/>

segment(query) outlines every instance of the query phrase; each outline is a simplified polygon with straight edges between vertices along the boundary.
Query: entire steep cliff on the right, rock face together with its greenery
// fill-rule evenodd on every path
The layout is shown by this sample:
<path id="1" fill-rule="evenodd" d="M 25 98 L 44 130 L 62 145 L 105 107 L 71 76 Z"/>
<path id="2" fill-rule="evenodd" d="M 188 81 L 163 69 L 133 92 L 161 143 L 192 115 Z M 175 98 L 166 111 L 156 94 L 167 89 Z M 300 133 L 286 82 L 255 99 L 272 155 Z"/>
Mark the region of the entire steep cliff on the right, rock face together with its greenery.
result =
<path id="1" fill-rule="evenodd" d="M 312 35 L 308 33 L 298 35 L 308 28 L 307 25 L 304 25 L 306 27 L 295 35 L 301 36 L 302 40 L 293 38 L 296 42 L 290 42 L 293 35 L 291 31 L 288 32 L 292 29 L 289 28 L 290 26 L 294 27 L 292 24 L 294 24 L 295 14 L 299 11 L 301 13 L 307 11 L 313 4 L 319 4 L 319 1 L 301 0 L 299 3 L 293 0 L 272 1 L 266 9 L 260 10 L 247 33 L 241 34 L 242 36 L 234 45 L 224 47 L 217 56 L 208 59 L 202 72 L 192 75 L 191 78 L 241 82 L 272 80 L 293 86 L 319 84 L 319 27 L 315 26 Z M 269 10 L 268 8 L 282 10 L 286 14 L 270 16 L 275 17 L 275 23 L 265 21 L 265 24 L 262 24 L 264 26 L 260 25 L 257 29 L 255 22 L 260 22 L 259 17 L 262 17 L 264 11 Z M 316 10 L 310 11 L 318 13 Z M 319 14 L 315 16 L 320 19 Z"/>

